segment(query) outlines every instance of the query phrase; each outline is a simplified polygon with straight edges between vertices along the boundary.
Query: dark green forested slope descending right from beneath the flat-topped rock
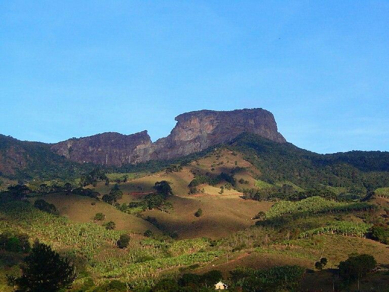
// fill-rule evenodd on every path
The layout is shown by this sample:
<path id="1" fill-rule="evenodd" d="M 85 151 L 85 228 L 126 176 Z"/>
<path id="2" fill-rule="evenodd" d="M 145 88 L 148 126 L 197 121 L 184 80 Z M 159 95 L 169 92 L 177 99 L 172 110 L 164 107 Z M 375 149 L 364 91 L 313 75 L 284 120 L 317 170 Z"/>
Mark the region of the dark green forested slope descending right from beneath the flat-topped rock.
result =
<path id="1" fill-rule="evenodd" d="M 261 172 L 259 179 L 274 184 L 290 181 L 305 188 L 319 184 L 332 187 L 362 187 L 372 192 L 389 186 L 389 152 L 351 151 L 317 154 L 243 133 L 228 148 L 241 152 Z"/>

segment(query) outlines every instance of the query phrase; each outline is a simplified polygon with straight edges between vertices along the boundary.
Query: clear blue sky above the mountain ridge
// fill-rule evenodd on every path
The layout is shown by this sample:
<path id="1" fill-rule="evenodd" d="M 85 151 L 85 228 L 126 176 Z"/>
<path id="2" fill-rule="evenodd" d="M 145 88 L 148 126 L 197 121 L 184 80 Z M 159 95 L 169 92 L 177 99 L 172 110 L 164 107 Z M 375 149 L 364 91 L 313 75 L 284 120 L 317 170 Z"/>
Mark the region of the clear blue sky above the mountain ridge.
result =
<path id="1" fill-rule="evenodd" d="M 0 0 L 0 133 L 57 142 L 262 107 L 301 148 L 389 151 L 389 2 Z"/>

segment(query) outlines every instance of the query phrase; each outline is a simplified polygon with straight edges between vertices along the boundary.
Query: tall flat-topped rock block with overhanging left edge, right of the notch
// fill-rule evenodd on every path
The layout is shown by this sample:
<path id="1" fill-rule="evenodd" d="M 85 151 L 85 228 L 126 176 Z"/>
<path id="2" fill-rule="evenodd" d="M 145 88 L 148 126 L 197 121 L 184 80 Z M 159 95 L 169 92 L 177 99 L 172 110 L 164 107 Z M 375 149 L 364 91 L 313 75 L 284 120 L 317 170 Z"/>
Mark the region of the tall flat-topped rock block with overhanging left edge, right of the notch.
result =
<path id="1" fill-rule="evenodd" d="M 158 159 L 171 159 L 228 142 L 243 132 L 258 134 L 279 143 L 286 142 L 278 132 L 273 114 L 262 108 L 235 111 L 197 111 L 175 118 L 176 126 L 166 138 L 154 143 Z"/>

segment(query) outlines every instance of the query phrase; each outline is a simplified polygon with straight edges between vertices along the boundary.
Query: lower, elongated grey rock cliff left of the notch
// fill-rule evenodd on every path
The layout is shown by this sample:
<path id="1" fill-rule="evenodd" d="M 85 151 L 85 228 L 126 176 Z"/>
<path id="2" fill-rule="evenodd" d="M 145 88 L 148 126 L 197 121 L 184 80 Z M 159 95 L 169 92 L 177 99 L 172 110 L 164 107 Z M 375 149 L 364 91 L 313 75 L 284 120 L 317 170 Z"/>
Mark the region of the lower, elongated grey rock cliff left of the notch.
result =
<path id="1" fill-rule="evenodd" d="M 51 150 L 80 163 L 120 166 L 149 160 L 151 139 L 147 131 L 132 135 L 108 132 L 68 139 L 53 144 Z"/>

